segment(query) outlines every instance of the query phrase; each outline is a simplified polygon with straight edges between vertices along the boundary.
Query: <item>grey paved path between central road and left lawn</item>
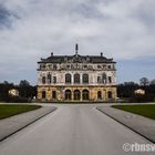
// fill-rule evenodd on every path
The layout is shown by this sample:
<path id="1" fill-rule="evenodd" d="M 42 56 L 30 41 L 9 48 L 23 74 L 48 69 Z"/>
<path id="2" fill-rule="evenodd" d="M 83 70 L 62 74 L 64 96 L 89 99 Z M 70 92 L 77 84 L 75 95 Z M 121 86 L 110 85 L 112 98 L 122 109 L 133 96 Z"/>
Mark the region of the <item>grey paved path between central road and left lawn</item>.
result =
<path id="1" fill-rule="evenodd" d="M 3 141 L 8 136 L 53 112 L 55 108 L 56 107 L 53 106 L 44 106 L 34 111 L 29 111 L 27 113 L 0 120 L 0 141 Z"/>

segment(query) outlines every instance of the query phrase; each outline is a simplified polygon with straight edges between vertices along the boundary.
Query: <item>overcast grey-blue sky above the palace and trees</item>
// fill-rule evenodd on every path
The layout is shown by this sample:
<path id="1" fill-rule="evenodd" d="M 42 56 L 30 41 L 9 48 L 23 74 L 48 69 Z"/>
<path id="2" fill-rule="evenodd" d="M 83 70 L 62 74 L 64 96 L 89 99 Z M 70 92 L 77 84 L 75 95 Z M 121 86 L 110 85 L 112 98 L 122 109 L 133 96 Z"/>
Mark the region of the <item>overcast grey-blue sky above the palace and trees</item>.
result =
<path id="1" fill-rule="evenodd" d="M 117 62 L 117 82 L 155 79 L 155 0 L 0 0 L 0 82 L 37 83 L 54 54 Z"/>

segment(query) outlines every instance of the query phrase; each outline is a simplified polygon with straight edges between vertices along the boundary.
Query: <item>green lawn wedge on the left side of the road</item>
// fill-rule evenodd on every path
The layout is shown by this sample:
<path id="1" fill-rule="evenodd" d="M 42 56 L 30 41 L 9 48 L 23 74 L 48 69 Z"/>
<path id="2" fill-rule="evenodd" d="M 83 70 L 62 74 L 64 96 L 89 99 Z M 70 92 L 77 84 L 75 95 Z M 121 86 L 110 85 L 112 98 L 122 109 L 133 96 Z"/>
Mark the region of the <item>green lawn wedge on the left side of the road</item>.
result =
<path id="1" fill-rule="evenodd" d="M 28 111 L 37 110 L 39 105 L 0 105 L 0 120 Z"/>

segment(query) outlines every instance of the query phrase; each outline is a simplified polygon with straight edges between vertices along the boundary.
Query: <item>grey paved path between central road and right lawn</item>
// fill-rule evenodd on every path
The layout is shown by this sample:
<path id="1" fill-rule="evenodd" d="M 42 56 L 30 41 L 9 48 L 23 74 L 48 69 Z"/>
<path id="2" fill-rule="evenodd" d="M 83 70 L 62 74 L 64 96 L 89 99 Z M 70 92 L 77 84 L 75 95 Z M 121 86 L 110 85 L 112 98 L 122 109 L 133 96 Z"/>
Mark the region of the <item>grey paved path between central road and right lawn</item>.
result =
<path id="1" fill-rule="evenodd" d="M 155 143 L 154 120 L 110 106 L 97 106 L 97 110 Z"/>

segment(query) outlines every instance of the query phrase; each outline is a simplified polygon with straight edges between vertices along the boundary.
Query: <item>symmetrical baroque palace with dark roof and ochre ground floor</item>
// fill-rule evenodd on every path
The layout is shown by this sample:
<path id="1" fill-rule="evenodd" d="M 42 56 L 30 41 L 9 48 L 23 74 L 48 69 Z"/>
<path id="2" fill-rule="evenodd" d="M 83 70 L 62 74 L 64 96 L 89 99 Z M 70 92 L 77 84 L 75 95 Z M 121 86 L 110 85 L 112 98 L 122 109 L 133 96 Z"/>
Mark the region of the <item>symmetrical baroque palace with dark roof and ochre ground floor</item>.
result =
<path id="1" fill-rule="evenodd" d="M 101 55 L 51 55 L 38 62 L 40 102 L 111 102 L 116 100 L 113 59 Z"/>

